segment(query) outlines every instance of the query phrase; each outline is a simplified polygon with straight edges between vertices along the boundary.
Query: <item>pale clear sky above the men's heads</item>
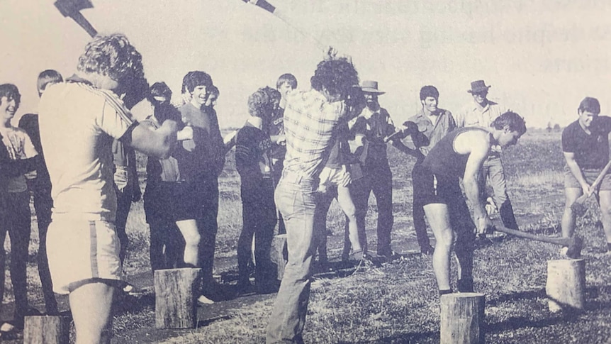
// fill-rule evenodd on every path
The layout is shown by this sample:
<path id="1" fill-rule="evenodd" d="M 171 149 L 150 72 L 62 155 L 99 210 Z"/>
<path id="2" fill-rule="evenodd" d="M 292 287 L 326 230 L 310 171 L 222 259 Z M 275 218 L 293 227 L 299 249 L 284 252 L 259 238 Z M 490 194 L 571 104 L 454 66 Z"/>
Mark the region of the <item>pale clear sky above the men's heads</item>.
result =
<path id="1" fill-rule="evenodd" d="M 435 85 L 439 106 L 458 112 L 477 79 L 529 127 L 568 125 L 585 96 L 611 113 L 611 2 L 268 1 L 279 16 L 241 0 L 91 0 L 82 13 L 99 33 L 127 35 L 149 82 L 166 82 L 175 100 L 186 72 L 211 74 L 222 127 L 241 126 L 248 96 L 285 72 L 308 89 L 319 45 L 350 55 L 361 80 L 379 82 L 396 123 L 421 108 L 420 87 Z M 17 118 L 36 111 L 38 73 L 71 75 L 90 40 L 53 2 L 0 0 L 0 83 L 21 90 Z"/>

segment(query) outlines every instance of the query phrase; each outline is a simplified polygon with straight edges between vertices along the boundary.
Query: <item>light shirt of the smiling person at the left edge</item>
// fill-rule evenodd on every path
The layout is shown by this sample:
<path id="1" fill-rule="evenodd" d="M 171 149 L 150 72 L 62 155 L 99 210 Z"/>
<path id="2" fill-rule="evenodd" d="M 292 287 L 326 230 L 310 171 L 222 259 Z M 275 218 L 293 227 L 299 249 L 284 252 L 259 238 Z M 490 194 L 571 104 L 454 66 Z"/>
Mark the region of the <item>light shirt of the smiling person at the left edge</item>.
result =
<path id="1" fill-rule="evenodd" d="M 4 128 L 0 133 L 2 134 L 2 143 L 9 151 L 9 157 L 12 160 L 29 159 L 38 155 L 30 136 L 23 129 L 11 126 L 10 128 Z M 28 174 L 28 176 L 30 175 L 35 177 L 35 174 Z M 26 177 L 22 174 L 19 177 L 9 179 L 8 190 L 9 192 L 27 191 Z"/>

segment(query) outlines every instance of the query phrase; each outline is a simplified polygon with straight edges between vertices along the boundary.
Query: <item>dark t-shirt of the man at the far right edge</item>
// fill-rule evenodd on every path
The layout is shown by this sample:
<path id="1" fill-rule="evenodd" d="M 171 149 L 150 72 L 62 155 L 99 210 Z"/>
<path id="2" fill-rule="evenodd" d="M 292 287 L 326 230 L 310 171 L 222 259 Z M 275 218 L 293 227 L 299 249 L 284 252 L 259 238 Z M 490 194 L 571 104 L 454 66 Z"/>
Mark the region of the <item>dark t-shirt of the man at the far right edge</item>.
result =
<path id="1" fill-rule="evenodd" d="M 599 169 L 609 161 L 609 133 L 611 117 L 599 116 L 585 133 L 574 121 L 562 131 L 562 151 L 575 153 L 577 165 L 581 168 Z"/>

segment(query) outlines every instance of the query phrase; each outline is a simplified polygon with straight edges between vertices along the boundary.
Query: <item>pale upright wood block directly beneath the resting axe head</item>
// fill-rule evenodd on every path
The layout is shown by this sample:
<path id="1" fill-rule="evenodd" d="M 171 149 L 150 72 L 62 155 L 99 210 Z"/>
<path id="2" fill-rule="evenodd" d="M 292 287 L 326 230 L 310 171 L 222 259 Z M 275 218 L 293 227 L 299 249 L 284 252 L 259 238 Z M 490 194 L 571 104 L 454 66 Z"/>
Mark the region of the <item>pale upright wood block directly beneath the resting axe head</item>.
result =
<path id="1" fill-rule="evenodd" d="M 547 261 L 545 293 L 549 311 L 583 310 L 585 307 L 585 260 Z"/>

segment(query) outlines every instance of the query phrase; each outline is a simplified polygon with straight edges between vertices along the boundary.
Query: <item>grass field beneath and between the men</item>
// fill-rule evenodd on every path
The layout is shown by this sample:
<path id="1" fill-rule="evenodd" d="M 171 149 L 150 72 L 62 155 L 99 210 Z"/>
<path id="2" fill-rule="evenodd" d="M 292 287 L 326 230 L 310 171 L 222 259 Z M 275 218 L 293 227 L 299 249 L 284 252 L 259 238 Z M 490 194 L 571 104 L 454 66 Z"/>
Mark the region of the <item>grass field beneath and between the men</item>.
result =
<path id="1" fill-rule="evenodd" d="M 394 148 L 388 148 L 388 152 L 394 189 L 393 249 L 405 253 L 417 249 L 410 201 L 413 159 Z M 564 158 L 559 133 L 529 132 L 517 146 L 503 152 L 503 161 L 522 229 L 559 235 L 564 206 Z M 587 306 L 582 313 L 552 314 L 547 310 L 546 262 L 560 258 L 559 247 L 502 237 L 478 244 L 475 289 L 486 294 L 484 328 L 488 343 L 611 343 L 611 255 L 603 254 L 605 240 L 598 224 L 598 206 L 591 200 L 588 204 L 590 210 L 578 221 L 578 233 L 585 240 L 582 253 L 588 288 Z M 239 177 L 230 153 L 220 177 L 216 274 L 226 276 L 237 271 L 235 255 L 241 218 Z M 343 219 L 337 206 L 332 206 L 327 220 L 334 233 L 328 243 L 333 260 L 340 257 L 342 247 Z M 370 248 L 376 244 L 375 223 L 376 206 L 372 200 L 366 221 Z M 132 245 L 125 270 L 138 274 L 149 269 L 148 228 L 142 202 L 133 205 L 128 234 Z M 32 304 L 42 304 L 34 264 L 36 237 L 33 230 L 29 296 Z M 406 255 L 380 268 L 361 269 L 347 277 L 333 276 L 320 275 L 313 282 L 306 343 L 439 343 L 439 297 L 429 256 Z M 453 283 L 455 286 L 456 276 Z M 10 301 L 8 281 L 6 294 L 5 300 Z M 216 304 L 209 312 L 203 309 L 200 314 L 205 319 L 189 331 L 155 330 L 152 299 L 145 294 L 118 309 L 113 343 L 264 343 L 274 295 L 226 301 L 229 306 L 225 309 Z"/>

